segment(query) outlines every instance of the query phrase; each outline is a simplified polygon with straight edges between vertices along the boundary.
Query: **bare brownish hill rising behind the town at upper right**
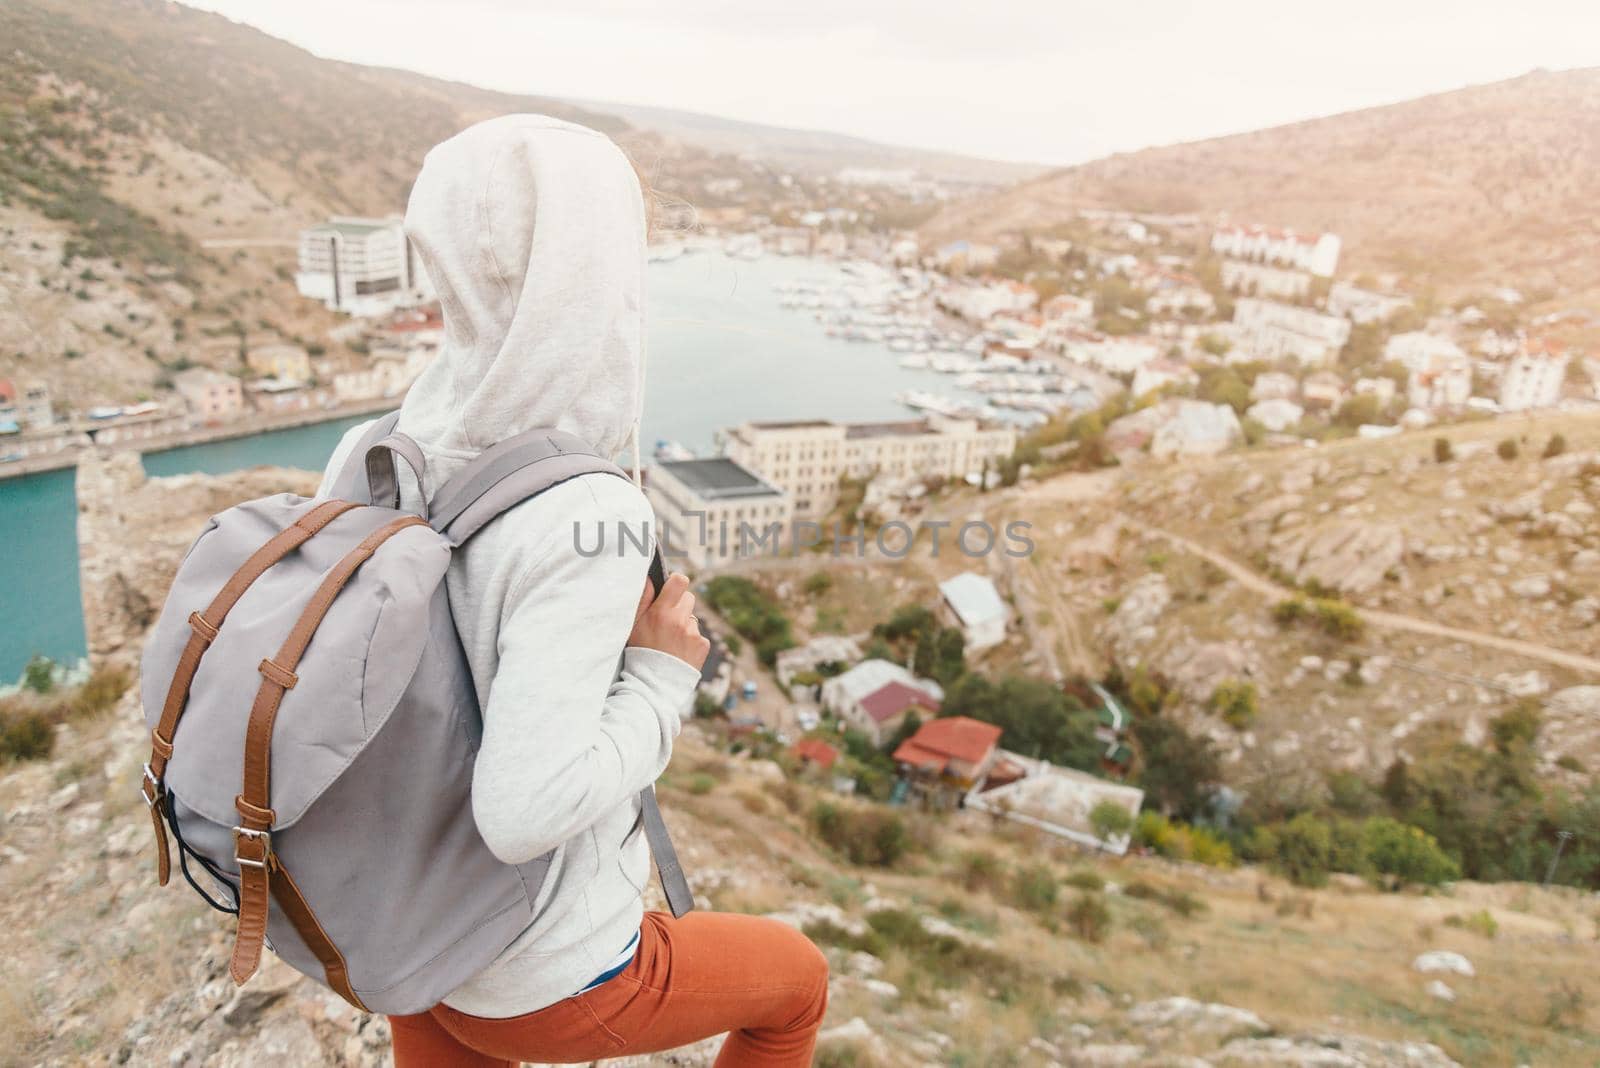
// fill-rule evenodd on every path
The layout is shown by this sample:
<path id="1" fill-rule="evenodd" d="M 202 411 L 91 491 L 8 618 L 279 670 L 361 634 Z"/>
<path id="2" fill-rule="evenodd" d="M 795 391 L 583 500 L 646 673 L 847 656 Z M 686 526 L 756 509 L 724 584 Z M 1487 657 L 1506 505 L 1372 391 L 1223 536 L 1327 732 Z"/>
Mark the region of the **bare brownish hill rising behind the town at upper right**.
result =
<path id="1" fill-rule="evenodd" d="M 952 205 L 926 232 L 1042 230 L 1085 206 L 1328 229 L 1350 270 L 1600 305 L 1600 69 L 1112 155 Z"/>

